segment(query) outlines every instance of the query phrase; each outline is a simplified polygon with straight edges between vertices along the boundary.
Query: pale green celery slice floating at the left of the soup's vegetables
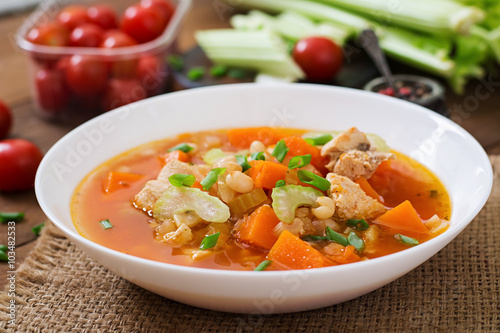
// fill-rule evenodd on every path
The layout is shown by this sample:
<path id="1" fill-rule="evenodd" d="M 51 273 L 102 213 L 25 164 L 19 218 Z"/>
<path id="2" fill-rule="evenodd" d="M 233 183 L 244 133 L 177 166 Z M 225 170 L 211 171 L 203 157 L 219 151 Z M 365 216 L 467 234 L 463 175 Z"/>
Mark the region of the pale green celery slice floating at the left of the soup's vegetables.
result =
<path id="1" fill-rule="evenodd" d="M 198 188 L 171 186 L 156 201 L 153 217 L 157 220 L 173 219 L 175 215 L 196 212 L 208 222 L 226 222 L 229 207 L 219 198 L 211 196 Z"/>

